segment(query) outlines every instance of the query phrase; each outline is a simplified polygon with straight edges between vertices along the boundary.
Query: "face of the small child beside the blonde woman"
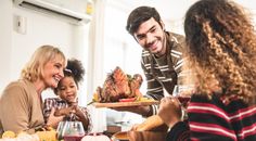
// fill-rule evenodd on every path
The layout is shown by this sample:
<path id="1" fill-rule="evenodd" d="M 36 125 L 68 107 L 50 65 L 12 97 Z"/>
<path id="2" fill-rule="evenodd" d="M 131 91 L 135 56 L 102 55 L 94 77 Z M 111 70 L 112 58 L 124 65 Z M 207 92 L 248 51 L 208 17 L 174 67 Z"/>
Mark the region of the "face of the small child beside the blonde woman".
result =
<path id="1" fill-rule="evenodd" d="M 77 85 L 72 76 L 65 76 L 61 79 L 57 88 L 57 94 L 61 99 L 66 100 L 68 103 L 76 102 Z"/>

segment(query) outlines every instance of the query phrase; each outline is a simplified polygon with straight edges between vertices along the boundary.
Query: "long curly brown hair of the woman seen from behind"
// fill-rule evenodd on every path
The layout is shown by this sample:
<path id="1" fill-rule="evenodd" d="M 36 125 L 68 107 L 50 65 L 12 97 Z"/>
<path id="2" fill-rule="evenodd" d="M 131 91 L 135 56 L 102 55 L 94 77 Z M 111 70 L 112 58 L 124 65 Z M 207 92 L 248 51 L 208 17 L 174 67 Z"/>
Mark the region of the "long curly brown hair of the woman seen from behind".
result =
<path id="1" fill-rule="evenodd" d="M 255 102 L 256 35 L 247 13 L 228 0 L 200 0 L 184 20 L 188 65 L 197 93 L 210 98 L 213 84 L 230 100 Z"/>

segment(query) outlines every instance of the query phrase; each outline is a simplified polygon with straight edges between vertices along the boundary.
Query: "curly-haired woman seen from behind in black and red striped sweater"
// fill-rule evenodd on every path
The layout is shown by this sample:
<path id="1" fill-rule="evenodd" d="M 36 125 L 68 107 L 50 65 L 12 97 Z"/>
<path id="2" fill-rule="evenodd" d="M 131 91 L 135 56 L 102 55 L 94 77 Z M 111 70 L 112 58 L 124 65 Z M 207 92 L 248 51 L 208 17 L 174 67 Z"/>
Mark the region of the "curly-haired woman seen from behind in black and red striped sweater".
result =
<path id="1" fill-rule="evenodd" d="M 200 0 L 184 20 L 187 65 L 195 84 L 188 123 L 176 98 L 161 102 L 167 140 L 256 140 L 256 35 L 247 13 L 229 0 Z"/>

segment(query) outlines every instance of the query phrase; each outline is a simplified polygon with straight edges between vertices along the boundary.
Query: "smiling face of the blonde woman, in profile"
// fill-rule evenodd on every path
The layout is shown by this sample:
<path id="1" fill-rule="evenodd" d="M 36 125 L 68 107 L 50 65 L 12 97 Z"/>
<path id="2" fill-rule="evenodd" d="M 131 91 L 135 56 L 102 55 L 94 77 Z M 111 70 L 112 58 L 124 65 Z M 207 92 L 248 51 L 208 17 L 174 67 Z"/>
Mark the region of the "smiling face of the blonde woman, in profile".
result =
<path id="1" fill-rule="evenodd" d="M 46 88 L 56 88 L 59 81 L 64 77 L 63 60 L 61 57 L 55 57 L 46 63 L 42 68 L 41 79 Z"/>

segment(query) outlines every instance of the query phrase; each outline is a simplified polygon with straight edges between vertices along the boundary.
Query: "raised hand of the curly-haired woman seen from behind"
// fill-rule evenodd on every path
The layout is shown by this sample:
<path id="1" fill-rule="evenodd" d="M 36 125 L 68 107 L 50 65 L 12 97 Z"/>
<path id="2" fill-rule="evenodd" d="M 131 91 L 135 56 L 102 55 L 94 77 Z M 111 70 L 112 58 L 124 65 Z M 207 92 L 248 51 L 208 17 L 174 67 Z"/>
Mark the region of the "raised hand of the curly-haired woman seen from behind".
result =
<path id="1" fill-rule="evenodd" d="M 181 104 L 177 98 L 167 97 L 161 100 L 158 116 L 170 128 L 181 120 Z"/>

